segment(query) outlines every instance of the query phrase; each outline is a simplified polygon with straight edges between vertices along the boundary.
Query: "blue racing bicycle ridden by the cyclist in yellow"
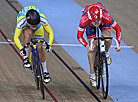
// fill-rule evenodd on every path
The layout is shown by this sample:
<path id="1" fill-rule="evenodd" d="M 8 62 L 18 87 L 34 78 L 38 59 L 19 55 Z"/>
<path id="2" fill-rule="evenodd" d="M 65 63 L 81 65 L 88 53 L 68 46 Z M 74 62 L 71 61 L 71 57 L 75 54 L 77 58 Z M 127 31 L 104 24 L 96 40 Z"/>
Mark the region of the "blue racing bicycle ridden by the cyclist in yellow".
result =
<path id="1" fill-rule="evenodd" d="M 32 38 L 31 41 L 28 42 L 23 47 L 23 49 L 25 49 L 27 46 L 30 46 L 31 48 L 30 62 L 31 62 L 32 67 L 30 68 L 30 70 L 34 75 L 37 89 L 41 90 L 42 98 L 45 99 L 44 86 L 43 86 L 44 70 L 43 70 L 42 63 L 39 57 L 39 53 L 36 47 L 36 43 L 38 42 L 42 42 L 43 44 L 47 45 L 45 41 L 34 41 Z"/>

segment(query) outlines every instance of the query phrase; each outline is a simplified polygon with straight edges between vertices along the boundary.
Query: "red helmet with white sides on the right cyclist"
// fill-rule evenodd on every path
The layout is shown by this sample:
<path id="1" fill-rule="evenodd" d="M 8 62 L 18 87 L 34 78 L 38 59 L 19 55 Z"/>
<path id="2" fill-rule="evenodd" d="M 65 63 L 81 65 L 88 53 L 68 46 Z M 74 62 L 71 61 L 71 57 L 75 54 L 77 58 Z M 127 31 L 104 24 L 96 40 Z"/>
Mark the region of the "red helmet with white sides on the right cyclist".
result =
<path id="1" fill-rule="evenodd" d="M 91 21 L 100 20 L 102 18 L 102 10 L 97 6 L 92 6 L 88 10 L 88 17 Z"/>

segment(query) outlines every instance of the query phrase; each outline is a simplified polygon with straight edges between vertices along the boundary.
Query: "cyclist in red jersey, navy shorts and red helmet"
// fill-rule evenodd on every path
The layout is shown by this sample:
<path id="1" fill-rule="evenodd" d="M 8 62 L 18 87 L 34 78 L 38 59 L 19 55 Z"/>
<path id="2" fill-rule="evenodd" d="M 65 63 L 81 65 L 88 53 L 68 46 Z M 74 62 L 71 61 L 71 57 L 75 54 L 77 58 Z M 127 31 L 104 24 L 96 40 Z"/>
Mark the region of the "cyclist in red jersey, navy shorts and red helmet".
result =
<path id="1" fill-rule="evenodd" d="M 96 44 L 97 41 L 93 42 L 93 48 L 90 49 L 90 41 L 92 38 L 96 37 L 96 27 L 99 27 L 101 33 L 105 37 L 111 36 L 112 27 L 116 31 L 116 38 L 119 43 L 119 48 L 116 47 L 116 51 L 120 51 L 120 40 L 121 40 L 121 28 L 117 22 L 109 15 L 105 7 L 100 3 L 94 3 L 87 5 L 82 11 L 82 17 L 79 23 L 79 28 L 77 32 L 77 39 L 79 42 L 88 49 L 88 60 L 90 65 L 90 84 L 96 86 L 95 73 L 94 73 L 94 60 L 96 54 Z M 86 29 L 86 36 L 89 44 L 83 38 L 84 31 Z M 111 57 L 109 53 L 109 48 L 111 46 L 112 40 L 106 39 L 105 41 L 105 51 L 108 64 L 111 64 Z"/>

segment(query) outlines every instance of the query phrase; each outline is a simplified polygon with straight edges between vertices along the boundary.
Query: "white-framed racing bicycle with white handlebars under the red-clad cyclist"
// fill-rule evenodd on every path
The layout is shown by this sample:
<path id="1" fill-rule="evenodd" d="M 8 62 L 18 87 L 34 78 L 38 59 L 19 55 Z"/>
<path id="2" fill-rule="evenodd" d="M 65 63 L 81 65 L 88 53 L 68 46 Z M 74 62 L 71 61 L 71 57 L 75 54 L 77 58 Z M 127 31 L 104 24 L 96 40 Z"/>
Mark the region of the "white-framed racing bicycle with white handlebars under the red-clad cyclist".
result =
<path id="1" fill-rule="evenodd" d="M 97 47 L 98 51 L 95 56 L 95 64 L 94 64 L 94 71 L 96 76 L 96 87 L 97 89 L 102 87 L 102 94 L 103 98 L 106 99 L 108 96 L 108 88 L 109 88 L 109 73 L 108 73 L 108 64 L 107 64 L 107 57 L 105 53 L 105 40 L 112 39 L 116 42 L 117 48 L 119 44 L 117 40 L 113 37 L 104 37 L 99 36 L 99 28 L 96 27 L 97 36 L 91 40 L 91 49 L 93 48 L 93 41 L 97 40 Z M 101 83 L 101 84 L 100 84 Z"/>

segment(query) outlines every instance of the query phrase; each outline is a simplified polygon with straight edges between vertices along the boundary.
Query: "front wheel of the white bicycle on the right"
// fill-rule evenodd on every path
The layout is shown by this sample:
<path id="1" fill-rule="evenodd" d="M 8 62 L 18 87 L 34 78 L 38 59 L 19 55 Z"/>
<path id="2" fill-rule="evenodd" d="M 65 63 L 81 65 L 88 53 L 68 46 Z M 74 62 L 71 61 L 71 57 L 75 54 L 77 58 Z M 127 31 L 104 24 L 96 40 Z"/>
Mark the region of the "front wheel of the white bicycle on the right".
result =
<path id="1" fill-rule="evenodd" d="M 105 53 L 102 54 L 101 79 L 102 79 L 103 98 L 106 99 L 108 96 L 109 75 L 108 75 L 108 64 Z"/>

